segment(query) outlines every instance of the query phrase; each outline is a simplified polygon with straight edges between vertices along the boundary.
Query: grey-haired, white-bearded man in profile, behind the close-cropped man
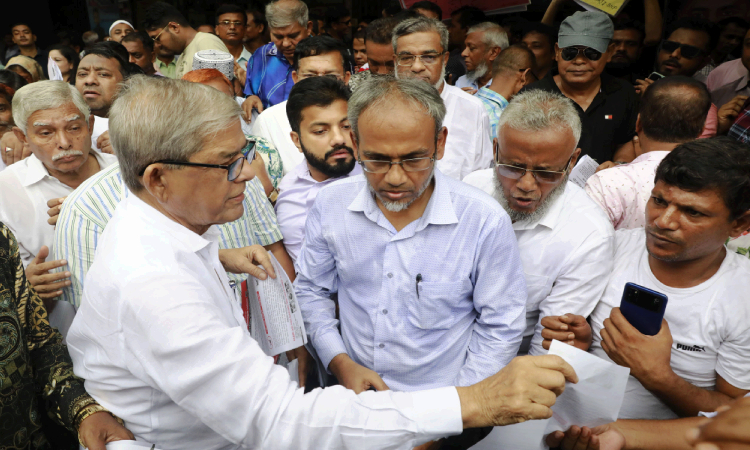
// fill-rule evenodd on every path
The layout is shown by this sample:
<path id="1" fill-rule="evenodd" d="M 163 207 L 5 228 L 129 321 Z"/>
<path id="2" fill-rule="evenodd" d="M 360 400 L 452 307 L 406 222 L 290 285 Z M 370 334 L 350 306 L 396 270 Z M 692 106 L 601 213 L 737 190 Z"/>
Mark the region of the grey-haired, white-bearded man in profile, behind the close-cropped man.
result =
<path id="1" fill-rule="evenodd" d="M 469 28 L 464 44 L 461 56 L 466 63 L 466 74 L 456 80 L 456 87 L 474 94 L 492 83 L 492 63 L 510 44 L 505 30 L 492 22 Z"/>

